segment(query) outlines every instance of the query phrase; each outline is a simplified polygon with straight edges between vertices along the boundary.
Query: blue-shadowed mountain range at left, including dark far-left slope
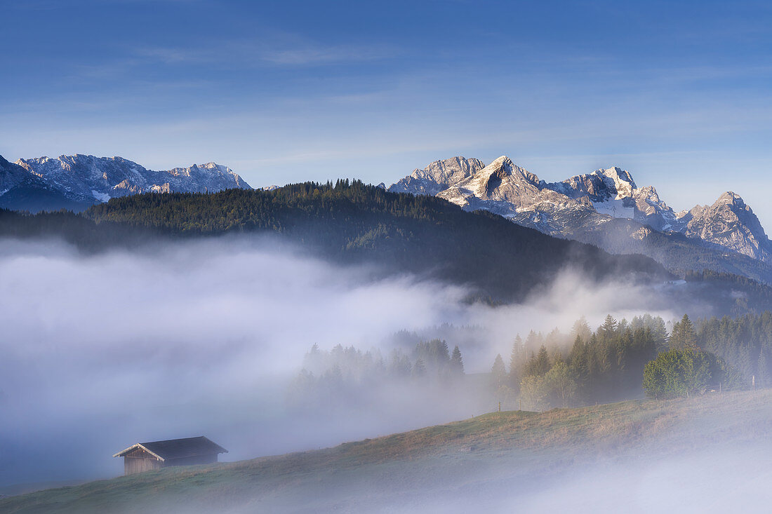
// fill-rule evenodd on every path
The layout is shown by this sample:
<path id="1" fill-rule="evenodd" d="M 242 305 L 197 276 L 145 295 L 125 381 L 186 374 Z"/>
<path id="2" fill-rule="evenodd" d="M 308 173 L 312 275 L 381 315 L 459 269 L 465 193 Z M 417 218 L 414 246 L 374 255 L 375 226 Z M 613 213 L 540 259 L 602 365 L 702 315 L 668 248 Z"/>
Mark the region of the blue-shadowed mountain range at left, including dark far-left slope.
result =
<path id="1" fill-rule="evenodd" d="M 75 154 L 10 163 L 0 156 L 0 207 L 14 210 L 83 211 L 129 194 L 229 188 L 251 189 L 229 167 L 213 162 L 153 171 L 123 157 Z"/>

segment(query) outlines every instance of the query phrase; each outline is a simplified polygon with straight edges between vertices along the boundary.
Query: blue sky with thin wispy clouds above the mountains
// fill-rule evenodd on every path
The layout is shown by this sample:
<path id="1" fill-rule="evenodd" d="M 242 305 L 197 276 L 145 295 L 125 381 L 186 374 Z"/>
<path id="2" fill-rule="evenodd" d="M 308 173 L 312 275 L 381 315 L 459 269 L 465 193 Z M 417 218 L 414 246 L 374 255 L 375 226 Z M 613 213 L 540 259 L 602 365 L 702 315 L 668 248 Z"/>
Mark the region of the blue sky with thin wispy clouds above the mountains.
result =
<path id="1" fill-rule="evenodd" d="M 618 165 L 772 230 L 770 2 L 0 0 L 0 154 L 390 184 Z M 770 204 L 769 206 L 767 204 Z"/>

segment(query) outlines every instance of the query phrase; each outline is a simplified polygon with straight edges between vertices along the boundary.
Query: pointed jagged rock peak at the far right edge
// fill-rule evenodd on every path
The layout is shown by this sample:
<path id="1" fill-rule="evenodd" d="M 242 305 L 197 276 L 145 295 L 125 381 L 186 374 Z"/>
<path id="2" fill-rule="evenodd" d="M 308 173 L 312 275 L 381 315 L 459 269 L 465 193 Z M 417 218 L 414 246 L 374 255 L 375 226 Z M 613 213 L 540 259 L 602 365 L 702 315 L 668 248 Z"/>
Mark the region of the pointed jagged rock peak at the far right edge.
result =
<path id="1" fill-rule="evenodd" d="M 740 195 L 731 191 L 722 194 L 713 205 L 697 205 L 680 219 L 682 233 L 748 255 L 770 261 L 772 244 Z"/>

